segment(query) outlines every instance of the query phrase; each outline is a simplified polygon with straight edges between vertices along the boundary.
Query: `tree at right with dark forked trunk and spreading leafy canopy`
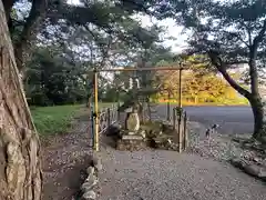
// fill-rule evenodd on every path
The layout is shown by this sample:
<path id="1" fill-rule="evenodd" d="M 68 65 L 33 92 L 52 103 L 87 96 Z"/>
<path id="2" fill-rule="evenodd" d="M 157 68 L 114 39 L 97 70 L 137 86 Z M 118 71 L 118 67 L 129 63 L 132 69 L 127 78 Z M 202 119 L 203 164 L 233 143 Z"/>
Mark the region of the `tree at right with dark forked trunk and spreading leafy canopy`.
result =
<path id="1" fill-rule="evenodd" d="M 137 2 L 137 3 L 136 3 Z M 174 18 L 191 31 L 193 53 L 206 53 L 225 80 L 250 103 L 254 113 L 253 137 L 262 139 L 264 110 L 258 92 L 258 70 L 264 68 L 266 42 L 266 2 L 264 0 L 166 0 L 123 1 L 127 8 L 145 10 L 157 18 Z M 249 90 L 237 83 L 228 68 L 248 66 Z"/>

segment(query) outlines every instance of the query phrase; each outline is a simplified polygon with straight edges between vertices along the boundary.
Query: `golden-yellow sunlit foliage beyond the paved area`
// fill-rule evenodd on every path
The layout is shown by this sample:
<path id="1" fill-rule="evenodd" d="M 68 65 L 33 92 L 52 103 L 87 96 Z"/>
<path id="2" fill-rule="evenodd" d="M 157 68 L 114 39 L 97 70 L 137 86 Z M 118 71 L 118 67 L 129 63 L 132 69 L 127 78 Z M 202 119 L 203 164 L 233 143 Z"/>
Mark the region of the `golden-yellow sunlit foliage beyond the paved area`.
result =
<path id="1" fill-rule="evenodd" d="M 187 103 L 247 103 L 222 77 L 216 73 L 202 73 L 201 70 L 182 72 L 182 101 Z M 161 73 L 162 89 L 153 96 L 153 101 L 180 99 L 180 76 L 173 71 Z"/>

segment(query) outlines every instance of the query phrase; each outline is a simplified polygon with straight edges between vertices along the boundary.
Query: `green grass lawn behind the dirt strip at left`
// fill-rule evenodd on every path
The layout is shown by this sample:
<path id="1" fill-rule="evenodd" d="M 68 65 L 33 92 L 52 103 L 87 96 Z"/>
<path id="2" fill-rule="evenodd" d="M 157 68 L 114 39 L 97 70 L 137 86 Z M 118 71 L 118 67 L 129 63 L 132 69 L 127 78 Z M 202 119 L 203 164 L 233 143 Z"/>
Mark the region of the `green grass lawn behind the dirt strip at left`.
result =
<path id="1" fill-rule="evenodd" d="M 99 107 L 110 107 L 111 104 L 112 103 L 100 103 Z M 73 118 L 79 117 L 84 113 L 84 104 L 31 108 L 34 124 L 41 137 L 68 132 Z"/>

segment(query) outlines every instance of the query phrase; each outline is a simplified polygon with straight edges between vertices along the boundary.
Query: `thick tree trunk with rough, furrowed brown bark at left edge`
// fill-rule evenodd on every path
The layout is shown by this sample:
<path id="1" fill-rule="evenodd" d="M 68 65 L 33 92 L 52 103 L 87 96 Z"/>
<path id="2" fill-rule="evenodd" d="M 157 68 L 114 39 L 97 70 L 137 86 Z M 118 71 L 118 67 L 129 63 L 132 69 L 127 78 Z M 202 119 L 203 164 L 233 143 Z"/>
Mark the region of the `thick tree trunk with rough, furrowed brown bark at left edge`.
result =
<path id="1" fill-rule="evenodd" d="M 0 199 L 39 200 L 40 142 L 16 66 L 0 1 Z"/>

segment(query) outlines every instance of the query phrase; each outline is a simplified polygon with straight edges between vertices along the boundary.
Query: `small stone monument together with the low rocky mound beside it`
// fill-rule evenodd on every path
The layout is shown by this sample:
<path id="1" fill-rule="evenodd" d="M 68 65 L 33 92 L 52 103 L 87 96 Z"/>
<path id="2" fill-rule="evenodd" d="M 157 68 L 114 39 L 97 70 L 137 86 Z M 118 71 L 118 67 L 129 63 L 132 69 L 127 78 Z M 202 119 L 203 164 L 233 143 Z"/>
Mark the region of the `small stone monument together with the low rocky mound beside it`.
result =
<path id="1" fill-rule="evenodd" d="M 121 151 L 139 151 L 150 148 L 182 151 L 181 148 L 187 146 L 185 118 L 182 116 L 180 123 L 183 137 L 178 134 L 178 127 L 170 121 L 151 121 L 140 119 L 137 103 L 125 106 L 124 126 L 120 129 L 115 139 L 116 149 Z M 180 148 L 181 146 L 181 148 Z M 184 149 L 184 148 L 183 148 Z"/>

